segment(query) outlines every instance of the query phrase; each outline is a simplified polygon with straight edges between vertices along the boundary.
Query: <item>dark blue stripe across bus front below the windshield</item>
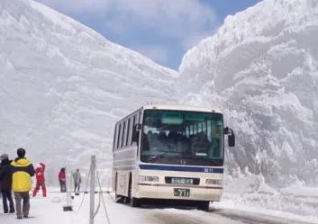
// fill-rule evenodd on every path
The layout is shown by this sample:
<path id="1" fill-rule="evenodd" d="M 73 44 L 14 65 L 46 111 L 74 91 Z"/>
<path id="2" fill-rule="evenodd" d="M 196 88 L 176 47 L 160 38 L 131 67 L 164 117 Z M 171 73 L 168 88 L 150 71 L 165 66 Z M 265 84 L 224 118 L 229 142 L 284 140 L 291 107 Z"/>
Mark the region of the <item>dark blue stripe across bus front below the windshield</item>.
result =
<path id="1" fill-rule="evenodd" d="M 180 172 L 197 172 L 197 173 L 215 173 L 223 174 L 223 168 L 211 168 L 202 166 L 163 166 L 163 165 L 139 165 L 141 169 L 148 170 L 168 170 L 168 171 L 180 171 Z"/>

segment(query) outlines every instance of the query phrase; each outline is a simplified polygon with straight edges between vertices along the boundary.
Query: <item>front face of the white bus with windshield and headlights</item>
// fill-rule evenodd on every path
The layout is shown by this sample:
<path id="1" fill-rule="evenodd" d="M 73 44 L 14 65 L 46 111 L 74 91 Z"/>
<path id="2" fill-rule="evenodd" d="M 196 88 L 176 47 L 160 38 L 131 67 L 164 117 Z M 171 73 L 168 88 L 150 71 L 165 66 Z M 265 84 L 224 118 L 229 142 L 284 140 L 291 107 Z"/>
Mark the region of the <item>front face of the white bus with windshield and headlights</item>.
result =
<path id="1" fill-rule="evenodd" d="M 145 108 L 135 196 L 205 205 L 220 201 L 223 130 L 221 112 L 192 107 Z"/>

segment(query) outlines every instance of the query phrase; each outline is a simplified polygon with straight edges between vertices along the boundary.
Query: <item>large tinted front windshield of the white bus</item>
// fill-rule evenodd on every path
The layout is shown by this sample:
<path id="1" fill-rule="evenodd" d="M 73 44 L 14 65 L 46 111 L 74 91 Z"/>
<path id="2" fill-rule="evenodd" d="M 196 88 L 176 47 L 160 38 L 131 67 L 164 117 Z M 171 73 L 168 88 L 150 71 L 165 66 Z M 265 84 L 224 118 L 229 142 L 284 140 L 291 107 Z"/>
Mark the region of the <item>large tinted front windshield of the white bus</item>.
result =
<path id="1" fill-rule="evenodd" d="M 223 166 L 223 115 L 145 110 L 141 162 Z"/>

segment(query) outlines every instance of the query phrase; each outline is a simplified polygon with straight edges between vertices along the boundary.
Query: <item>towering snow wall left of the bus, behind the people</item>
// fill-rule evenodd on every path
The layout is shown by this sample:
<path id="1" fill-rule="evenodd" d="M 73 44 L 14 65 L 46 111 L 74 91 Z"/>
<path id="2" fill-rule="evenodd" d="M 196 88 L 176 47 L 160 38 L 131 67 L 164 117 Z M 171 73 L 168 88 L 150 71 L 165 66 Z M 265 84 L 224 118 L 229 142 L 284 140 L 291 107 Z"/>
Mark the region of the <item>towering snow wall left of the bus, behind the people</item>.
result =
<path id="1" fill-rule="evenodd" d="M 28 0 L 0 1 L 0 67 L 1 150 L 57 169 L 110 159 L 114 121 L 175 101 L 177 72 Z"/>

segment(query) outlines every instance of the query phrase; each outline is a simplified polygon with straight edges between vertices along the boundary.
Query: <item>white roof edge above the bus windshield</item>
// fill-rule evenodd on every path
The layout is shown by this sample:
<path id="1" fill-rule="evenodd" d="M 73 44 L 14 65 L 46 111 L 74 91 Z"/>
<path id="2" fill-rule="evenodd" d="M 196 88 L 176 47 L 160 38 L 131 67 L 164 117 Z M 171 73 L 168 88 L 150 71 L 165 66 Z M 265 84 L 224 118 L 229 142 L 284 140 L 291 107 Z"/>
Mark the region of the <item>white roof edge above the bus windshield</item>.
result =
<path id="1" fill-rule="evenodd" d="M 143 110 L 147 110 L 147 109 L 222 113 L 220 110 L 213 109 L 213 108 L 192 106 L 192 105 L 178 105 L 178 104 L 150 104 L 150 105 L 143 106 Z"/>

